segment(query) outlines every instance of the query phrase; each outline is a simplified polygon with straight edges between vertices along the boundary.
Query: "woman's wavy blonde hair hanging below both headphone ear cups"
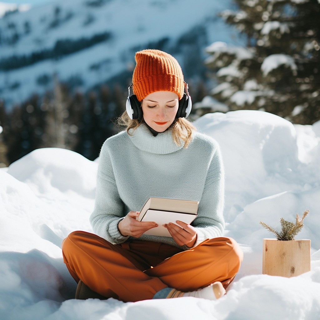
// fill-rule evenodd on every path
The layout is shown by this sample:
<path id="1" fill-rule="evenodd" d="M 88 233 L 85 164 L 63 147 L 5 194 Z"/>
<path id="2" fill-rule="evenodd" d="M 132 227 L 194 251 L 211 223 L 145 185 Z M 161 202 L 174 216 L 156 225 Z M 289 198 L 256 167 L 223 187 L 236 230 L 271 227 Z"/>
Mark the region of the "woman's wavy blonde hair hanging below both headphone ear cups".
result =
<path id="1" fill-rule="evenodd" d="M 126 111 L 117 119 L 117 124 L 120 126 L 126 126 L 127 133 L 131 136 L 132 132 L 130 132 L 130 130 L 136 130 L 142 122 L 144 122 L 143 116 L 141 121 L 138 121 L 137 119 L 132 120 Z M 188 145 L 193 138 L 193 133 L 197 131 L 196 127 L 185 118 L 174 119 L 171 127 L 172 139 L 177 146 L 181 146 L 181 142 L 184 142 L 183 148 L 188 148 Z"/>

